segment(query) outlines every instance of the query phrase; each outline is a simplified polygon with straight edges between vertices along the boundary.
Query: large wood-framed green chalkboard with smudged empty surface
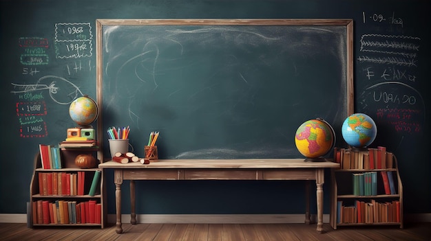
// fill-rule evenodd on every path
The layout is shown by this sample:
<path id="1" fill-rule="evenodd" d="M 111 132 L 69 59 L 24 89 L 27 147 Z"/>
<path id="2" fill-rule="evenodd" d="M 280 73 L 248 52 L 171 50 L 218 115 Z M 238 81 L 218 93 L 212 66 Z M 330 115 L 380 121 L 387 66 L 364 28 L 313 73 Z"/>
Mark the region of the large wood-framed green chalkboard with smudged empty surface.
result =
<path id="1" fill-rule="evenodd" d="M 98 20 L 99 136 L 162 159 L 302 157 L 295 132 L 353 113 L 351 20 Z M 323 47 L 322 47 L 323 46 Z"/>

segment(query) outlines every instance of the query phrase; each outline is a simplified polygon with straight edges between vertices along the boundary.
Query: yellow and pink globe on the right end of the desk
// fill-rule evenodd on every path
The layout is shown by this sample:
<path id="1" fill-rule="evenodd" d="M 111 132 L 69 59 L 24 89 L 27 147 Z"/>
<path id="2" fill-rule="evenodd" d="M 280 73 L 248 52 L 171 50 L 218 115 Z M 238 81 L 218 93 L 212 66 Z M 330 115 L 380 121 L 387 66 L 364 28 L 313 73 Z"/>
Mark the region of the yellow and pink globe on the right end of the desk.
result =
<path id="1" fill-rule="evenodd" d="M 334 130 L 323 119 L 310 119 L 296 130 L 295 144 L 307 158 L 322 157 L 335 144 Z"/>

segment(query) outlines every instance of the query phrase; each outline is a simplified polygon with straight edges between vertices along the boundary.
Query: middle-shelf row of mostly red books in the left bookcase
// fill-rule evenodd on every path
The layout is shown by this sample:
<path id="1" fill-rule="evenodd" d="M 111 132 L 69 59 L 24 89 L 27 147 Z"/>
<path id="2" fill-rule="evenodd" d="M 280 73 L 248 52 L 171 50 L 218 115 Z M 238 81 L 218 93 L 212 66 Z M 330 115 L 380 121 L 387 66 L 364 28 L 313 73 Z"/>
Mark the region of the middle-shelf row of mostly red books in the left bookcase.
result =
<path id="1" fill-rule="evenodd" d="M 101 171 L 91 172 L 39 172 L 39 194 L 42 196 L 66 195 L 94 196 L 98 190 Z"/>

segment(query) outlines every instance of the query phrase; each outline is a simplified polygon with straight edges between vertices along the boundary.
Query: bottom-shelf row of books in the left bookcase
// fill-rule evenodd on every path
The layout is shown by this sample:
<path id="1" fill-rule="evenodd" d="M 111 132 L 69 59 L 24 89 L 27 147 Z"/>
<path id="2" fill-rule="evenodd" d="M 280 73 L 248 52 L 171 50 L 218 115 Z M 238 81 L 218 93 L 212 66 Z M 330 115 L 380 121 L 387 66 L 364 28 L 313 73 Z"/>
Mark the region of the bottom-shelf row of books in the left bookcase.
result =
<path id="1" fill-rule="evenodd" d="M 32 202 L 33 224 L 101 224 L 102 205 L 96 200 L 35 200 Z"/>

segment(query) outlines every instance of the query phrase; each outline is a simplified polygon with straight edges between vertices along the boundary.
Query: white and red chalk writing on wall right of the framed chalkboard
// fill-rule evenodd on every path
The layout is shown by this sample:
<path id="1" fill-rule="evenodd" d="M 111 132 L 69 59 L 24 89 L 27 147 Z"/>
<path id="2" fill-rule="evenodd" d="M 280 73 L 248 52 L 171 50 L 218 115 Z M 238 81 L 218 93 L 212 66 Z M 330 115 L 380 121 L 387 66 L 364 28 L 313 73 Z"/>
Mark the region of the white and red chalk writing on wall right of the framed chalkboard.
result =
<path id="1" fill-rule="evenodd" d="M 374 16 L 373 21 L 385 21 Z M 365 21 L 364 21 L 365 23 Z M 401 23 L 392 16 L 391 24 Z M 413 86 L 417 81 L 421 38 L 394 34 L 364 34 L 363 53 L 357 57 L 368 81 L 359 93 L 361 108 L 377 122 L 392 126 L 396 133 L 421 133 L 425 124 L 425 103 Z"/>

